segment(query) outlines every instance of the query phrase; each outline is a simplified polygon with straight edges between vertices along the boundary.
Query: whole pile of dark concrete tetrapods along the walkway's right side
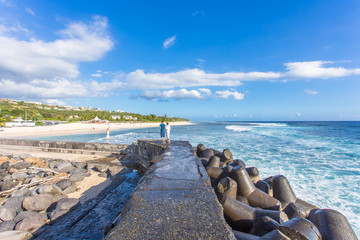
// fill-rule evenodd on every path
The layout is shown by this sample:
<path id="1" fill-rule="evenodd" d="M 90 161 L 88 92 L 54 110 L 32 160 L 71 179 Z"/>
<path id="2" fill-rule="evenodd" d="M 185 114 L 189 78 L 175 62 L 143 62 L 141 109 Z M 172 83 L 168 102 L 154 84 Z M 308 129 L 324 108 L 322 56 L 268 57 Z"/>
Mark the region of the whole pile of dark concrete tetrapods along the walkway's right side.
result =
<path id="1" fill-rule="evenodd" d="M 340 212 L 318 207 L 296 197 L 283 175 L 261 179 L 256 167 L 233 159 L 231 151 L 199 144 L 201 160 L 237 239 L 358 239 Z"/>

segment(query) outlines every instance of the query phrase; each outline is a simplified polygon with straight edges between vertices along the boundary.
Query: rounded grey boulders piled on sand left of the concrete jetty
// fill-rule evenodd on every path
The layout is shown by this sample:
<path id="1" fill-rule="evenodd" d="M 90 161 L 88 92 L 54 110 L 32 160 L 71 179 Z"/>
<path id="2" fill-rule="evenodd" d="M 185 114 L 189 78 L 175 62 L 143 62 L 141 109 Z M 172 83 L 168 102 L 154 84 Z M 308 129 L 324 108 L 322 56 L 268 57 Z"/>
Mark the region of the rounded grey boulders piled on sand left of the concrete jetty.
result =
<path id="1" fill-rule="evenodd" d="M 83 204 L 84 183 L 96 185 L 89 179 L 105 181 L 132 172 L 133 160 L 122 158 L 70 162 L 29 154 L 0 156 L 0 239 L 29 239 L 49 231 Z"/>

